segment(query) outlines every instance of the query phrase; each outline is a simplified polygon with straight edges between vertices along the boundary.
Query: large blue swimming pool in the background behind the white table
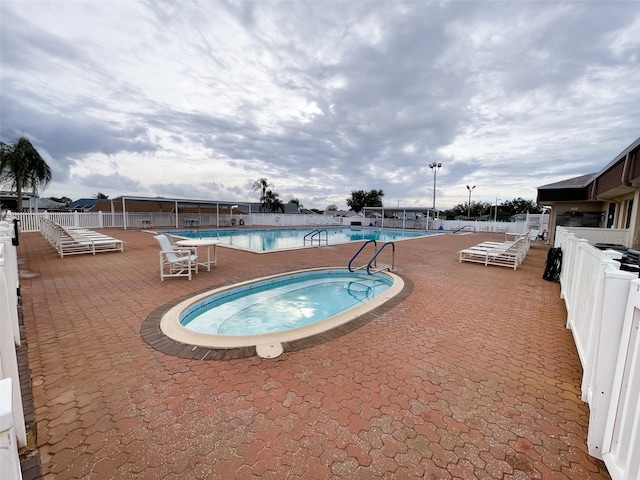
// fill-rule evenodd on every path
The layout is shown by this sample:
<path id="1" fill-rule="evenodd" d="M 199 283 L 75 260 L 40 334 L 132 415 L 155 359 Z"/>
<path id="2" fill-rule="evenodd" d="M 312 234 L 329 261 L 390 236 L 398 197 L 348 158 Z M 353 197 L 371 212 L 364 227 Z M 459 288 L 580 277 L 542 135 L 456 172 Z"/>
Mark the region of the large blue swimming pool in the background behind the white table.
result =
<path id="1" fill-rule="evenodd" d="M 311 246 L 309 239 L 305 242 L 305 235 L 314 228 L 274 228 L 274 229 L 215 229 L 215 230 L 172 230 L 162 233 L 186 238 L 215 238 L 221 245 L 256 252 L 270 252 Z M 419 238 L 436 235 L 442 232 L 425 230 L 397 230 L 369 227 L 327 227 L 319 228 L 321 244 L 326 239 L 330 245 L 337 243 L 357 242 L 362 240 L 376 240 L 393 242 L 409 238 Z M 305 245 L 306 243 L 306 245 Z M 318 236 L 313 245 L 318 245 Z"/>

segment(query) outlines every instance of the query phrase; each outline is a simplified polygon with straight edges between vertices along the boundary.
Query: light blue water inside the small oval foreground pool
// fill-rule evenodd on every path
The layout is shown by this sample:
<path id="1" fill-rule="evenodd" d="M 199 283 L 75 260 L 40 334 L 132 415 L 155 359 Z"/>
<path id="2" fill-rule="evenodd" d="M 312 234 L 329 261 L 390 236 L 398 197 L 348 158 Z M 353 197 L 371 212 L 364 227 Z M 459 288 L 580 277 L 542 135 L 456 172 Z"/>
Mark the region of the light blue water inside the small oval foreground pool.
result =
<path id="1" fill-rule="evenodd" d="M 344 269 L 296 274 L 207 297 L 179 318 L 189 330 L 214 335 L 256 335 L 302 327 L 379 295 L 393 280 Z"/>

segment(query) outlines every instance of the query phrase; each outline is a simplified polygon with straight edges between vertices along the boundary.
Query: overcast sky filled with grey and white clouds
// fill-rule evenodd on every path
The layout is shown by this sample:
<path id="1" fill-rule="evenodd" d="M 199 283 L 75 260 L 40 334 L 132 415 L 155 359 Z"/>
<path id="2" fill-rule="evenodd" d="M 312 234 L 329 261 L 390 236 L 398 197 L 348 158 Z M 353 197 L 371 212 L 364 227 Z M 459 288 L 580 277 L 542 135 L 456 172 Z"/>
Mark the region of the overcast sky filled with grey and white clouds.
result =
<path id="1" fill-rule="evenodd" d="M 2 0 L 0 139 L 98 192 L 516 197 L 640 136 L 640 2 Z M 499 200 L 500 201 L 500 200 Z"/>

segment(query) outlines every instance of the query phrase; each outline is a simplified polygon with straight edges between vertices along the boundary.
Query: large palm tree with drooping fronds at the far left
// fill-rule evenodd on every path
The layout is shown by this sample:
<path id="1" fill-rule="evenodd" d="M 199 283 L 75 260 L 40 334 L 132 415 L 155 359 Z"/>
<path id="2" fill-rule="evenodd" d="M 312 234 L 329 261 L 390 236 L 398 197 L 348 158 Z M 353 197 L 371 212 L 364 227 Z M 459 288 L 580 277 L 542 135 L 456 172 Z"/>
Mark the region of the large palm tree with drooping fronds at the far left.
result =
<path id="1" fill-rule="evenodd" d="M 0 142 L 0 181 L 15 188 L 18 211 L 22 211 L 22 190 L 47 188 L 51 182 L 51 169 L 29 139 L 20 137 L 13 145 Z"/>

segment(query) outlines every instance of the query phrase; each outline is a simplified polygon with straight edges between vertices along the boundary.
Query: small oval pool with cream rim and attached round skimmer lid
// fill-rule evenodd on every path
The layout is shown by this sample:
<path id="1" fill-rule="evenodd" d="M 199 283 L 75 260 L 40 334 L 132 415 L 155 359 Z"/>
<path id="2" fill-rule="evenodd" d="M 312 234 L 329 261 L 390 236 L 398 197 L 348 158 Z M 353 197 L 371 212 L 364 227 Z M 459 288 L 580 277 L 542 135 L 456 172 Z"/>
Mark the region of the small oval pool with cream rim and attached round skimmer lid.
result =
<path id="1" fill-rule="evenodd" d="M 273 358 L 282 353 L 282 342 L 343 325 L 397 295 L 403 286 L 400 277 L 388 272 L 291 272 L 196 295 L 171 308 L 160 328 L 187 345 L 255 346 L 258 355 Z"/>

